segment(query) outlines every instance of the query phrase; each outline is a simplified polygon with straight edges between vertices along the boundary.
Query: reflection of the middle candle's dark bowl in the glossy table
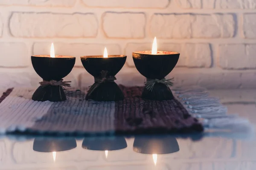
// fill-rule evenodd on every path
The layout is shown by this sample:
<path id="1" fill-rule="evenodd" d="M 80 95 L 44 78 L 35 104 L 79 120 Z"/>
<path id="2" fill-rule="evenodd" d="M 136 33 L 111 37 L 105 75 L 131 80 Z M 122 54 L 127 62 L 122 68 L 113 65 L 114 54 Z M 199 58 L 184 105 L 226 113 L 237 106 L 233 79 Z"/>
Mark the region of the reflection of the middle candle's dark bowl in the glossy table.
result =
<path id="1" fill-rule="evenodd" d="M 82 143 L 82 148 L 87 150 L 111 151 L 126 147 L 125 138 L 121 136 L 88 137 L 84 138 Z"/>

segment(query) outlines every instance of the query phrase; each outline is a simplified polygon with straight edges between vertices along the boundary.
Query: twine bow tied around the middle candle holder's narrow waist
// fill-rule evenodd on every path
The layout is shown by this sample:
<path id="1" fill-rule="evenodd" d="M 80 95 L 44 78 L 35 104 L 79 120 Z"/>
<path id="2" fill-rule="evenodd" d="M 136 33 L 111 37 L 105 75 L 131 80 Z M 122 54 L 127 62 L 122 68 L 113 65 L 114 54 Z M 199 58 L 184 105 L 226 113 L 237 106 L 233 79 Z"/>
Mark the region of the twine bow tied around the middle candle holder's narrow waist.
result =
<path id="1" fill-rule="evenodd" d="M 87 92 L 88 95 L 90 94 L 97 88 L 99 87 L 100 84 L 105 83 L 105 82 L 114 82 L 116 80 L 116 77 L 114 76 L 108 76 L 108 71 L 101 71 L 101 77 L 94 77 L 94 84 L 89 86 L 89 91 Z"/>

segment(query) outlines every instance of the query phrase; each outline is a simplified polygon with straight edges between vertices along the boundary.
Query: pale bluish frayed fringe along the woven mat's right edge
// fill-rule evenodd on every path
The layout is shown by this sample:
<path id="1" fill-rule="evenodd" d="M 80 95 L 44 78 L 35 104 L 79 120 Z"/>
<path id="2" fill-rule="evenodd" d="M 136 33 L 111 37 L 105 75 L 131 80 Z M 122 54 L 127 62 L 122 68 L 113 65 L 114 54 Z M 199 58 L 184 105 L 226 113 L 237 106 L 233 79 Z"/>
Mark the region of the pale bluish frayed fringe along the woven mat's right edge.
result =
<path id="1" fill-rule="evenodd" d="M 199 119 L 205 129 L 253 131 L 253 126 L 247 119 L 237 114 L 227 114 L 227 107 L 218 98 L 210 97 L 207 89 L 190 86 L 172 90 L 175 97 L 192 116 Z"/>

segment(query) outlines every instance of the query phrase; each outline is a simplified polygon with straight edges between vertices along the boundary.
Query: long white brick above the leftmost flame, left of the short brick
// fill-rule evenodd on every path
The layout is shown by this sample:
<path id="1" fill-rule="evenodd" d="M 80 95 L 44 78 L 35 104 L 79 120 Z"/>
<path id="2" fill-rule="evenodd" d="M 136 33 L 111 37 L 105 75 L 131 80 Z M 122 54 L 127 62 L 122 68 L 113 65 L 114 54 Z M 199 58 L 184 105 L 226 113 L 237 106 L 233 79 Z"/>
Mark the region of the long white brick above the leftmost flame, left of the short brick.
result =
<path id="1" fill-rule="evenodd" d="M 15 12 L 10 18 L 14 37 L 96 37 L 98 23 L 94 14 L 56 14 Z"/>

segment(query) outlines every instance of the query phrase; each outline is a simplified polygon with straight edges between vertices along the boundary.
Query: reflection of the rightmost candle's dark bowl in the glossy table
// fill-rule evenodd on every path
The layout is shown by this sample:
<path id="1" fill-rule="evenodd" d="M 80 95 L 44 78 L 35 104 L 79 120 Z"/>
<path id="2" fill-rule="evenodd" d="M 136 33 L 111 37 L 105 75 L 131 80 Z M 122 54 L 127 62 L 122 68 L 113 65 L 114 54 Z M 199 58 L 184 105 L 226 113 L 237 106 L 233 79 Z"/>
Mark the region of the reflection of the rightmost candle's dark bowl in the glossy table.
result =
<path id="1" fill-rule="evenodd" d="M 169 154 L 178 152 L 180 148 L 172 136 L 136 136 L 133 150 L 143 154 Z"/>

